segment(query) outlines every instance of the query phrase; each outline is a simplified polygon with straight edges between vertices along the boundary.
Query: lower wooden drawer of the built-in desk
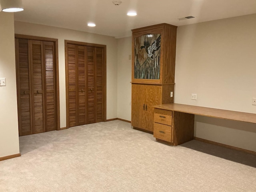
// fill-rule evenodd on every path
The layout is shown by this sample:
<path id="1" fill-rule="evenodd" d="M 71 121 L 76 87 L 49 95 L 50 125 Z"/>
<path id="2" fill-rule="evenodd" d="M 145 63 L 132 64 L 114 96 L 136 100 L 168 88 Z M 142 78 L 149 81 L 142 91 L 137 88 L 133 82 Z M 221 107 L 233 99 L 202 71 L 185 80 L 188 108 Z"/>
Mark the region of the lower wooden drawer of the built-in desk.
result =
<path id="1" fill-rule="evenodd" d="M 172 142 L 172 126 L 154 123 L 154 137 Z"/>

